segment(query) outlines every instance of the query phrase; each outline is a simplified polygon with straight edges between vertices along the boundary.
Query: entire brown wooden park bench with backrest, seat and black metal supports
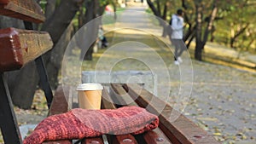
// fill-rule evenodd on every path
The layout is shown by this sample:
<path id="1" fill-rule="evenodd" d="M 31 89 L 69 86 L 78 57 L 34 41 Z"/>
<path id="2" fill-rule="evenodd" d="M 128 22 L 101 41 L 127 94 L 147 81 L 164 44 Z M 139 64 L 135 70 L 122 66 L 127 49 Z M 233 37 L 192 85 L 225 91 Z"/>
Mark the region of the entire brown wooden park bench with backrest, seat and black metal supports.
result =
<path id="1" fill-rule="evenodd" d="M 26 29 L 32 29 L 31 22 L 39 23 L 44 21 L 42 10 L 33 0 L 0 0 L 0 14 L 26 20 Z M 67 100 L 64 95 L 64 90 L 67 90 L 67 88 L 57 89 L 52 101 L 51 89 L 49 88 L 44 63 L 40 56 L 51 49 L 52 45 L 53 43 L 47 32 L 35 32 L 16 28 L 0 30 L 0 126 L 4 142 L 7 144 L 22 143 L 22 141 L 4 72 L 20 69 L 29 61 L 36 60 L 40 79 L 44 82 L 44 93 L 48 106 L 50 106 L 49 114 L 67 112 L 68 110 Z M 102 108 L 114 109 L 124 106 L 146 108 L 148 112 L 159 116 L 160 127 L 145 132 L 142 135 L 103 135 L 86 138 L 82 140 L 83 144 L 103 144 L 106 141 L 110 144 L 218 143 L 205 130 L 201 130 L 188 118 L 173 110 L 166 102 L 161 101 L 138 85 L 111 84 L 109 91 L 107 89 L 103 90 L 102 97 Z M 74 103 L 73 106 L 78 105 Z M 162 107 L 162 109 L 159 107 Z M 170 115 L 171 113 L 172 115 Z M 169 119 L 170 116 L 177 117 L 177 119 L 172 122 Z M 48 141 L 44 143 L 71 144 L 72 140 Z"/>

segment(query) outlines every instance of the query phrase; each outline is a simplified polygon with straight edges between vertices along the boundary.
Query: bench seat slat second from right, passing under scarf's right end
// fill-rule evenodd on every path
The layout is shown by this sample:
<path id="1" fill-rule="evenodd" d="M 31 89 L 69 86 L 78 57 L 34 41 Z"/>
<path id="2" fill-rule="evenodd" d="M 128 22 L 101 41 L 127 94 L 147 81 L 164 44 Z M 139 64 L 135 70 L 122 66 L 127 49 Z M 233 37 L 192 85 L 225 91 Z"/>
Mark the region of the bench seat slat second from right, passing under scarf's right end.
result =
<path id="1" fill-rule="evenodd" d="M 119 96 L 119 101 L 123 101 L 123 103 L 127 106 L 138 106 L 135 101 L 131 98 L 130 95 L 125 91 L 122 84 L 111 84 L 112 89 L 114 90 L 115 96 Z M 120 96 L 125 95 L 125 96 Z M 172 144 L 172 142 L 166 137 L 166 135 L 160 130 L 160 128 L 156 128 L 154 130 L 149 130 L 143 134 L 143 139 L 148 144 Z"/>

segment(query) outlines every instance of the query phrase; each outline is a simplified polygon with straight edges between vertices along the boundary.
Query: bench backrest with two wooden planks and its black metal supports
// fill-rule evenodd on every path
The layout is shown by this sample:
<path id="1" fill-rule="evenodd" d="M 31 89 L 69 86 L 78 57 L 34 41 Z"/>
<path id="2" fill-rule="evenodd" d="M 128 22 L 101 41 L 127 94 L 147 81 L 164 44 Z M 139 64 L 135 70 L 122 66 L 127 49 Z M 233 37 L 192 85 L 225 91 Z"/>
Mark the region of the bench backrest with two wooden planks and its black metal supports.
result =
<path id="1" fill-rule="evenodd" d="M 0 126 L 4 142 L 18 144 L 22 140 L 4 72 L 19 70 L 35 60 L 50 106 L 53 95 L 41 55 L 51 49 L 53 43 L 49 33 L 32 31 L 32 22 L 45 20 L 42 9 L 34 0 L 0 0 L 0 14 L 24 20 L 26 27 L 26 30 L 12 27 L 0 30 Z"/>

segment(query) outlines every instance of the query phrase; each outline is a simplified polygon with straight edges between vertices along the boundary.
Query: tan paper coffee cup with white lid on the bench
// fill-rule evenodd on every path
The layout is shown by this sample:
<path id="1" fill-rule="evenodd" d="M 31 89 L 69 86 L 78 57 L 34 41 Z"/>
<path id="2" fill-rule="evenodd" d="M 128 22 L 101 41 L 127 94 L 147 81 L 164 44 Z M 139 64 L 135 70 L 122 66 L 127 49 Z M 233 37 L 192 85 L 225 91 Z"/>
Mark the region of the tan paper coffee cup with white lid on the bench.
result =
<path id="1" fill-rule="evenodd" d="M 79 84 L 79 107 L 84 109 L 101 109 L 102 84 Z"/>

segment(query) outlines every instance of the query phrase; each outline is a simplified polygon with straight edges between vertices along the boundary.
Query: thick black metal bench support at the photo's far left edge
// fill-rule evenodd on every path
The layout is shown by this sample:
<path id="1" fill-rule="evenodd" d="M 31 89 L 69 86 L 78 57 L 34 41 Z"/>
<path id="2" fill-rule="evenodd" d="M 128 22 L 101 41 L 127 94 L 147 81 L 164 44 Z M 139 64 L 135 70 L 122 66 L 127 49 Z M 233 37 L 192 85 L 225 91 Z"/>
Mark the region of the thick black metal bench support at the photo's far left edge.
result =
<path id="1" fill-rule="evenodd" d="M 0 126 L 5 143 L 22 143 L 13 102 L 3 73 L 0 78 Z"/>

